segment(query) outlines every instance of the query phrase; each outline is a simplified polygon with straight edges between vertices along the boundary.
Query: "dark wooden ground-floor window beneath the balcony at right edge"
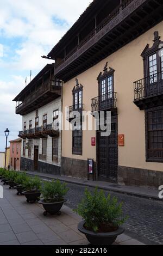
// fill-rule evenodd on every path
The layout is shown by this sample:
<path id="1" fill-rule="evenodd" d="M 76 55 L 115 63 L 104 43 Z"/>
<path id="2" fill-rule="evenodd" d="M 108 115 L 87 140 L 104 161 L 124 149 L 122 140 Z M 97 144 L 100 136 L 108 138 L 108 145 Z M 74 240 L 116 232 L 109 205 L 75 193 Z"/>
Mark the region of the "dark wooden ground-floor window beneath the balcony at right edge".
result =
<path id="1" fill-rule="evenodd" d="M 146 112 L 147 161 L 163 162 L 163 108 Z"/>

